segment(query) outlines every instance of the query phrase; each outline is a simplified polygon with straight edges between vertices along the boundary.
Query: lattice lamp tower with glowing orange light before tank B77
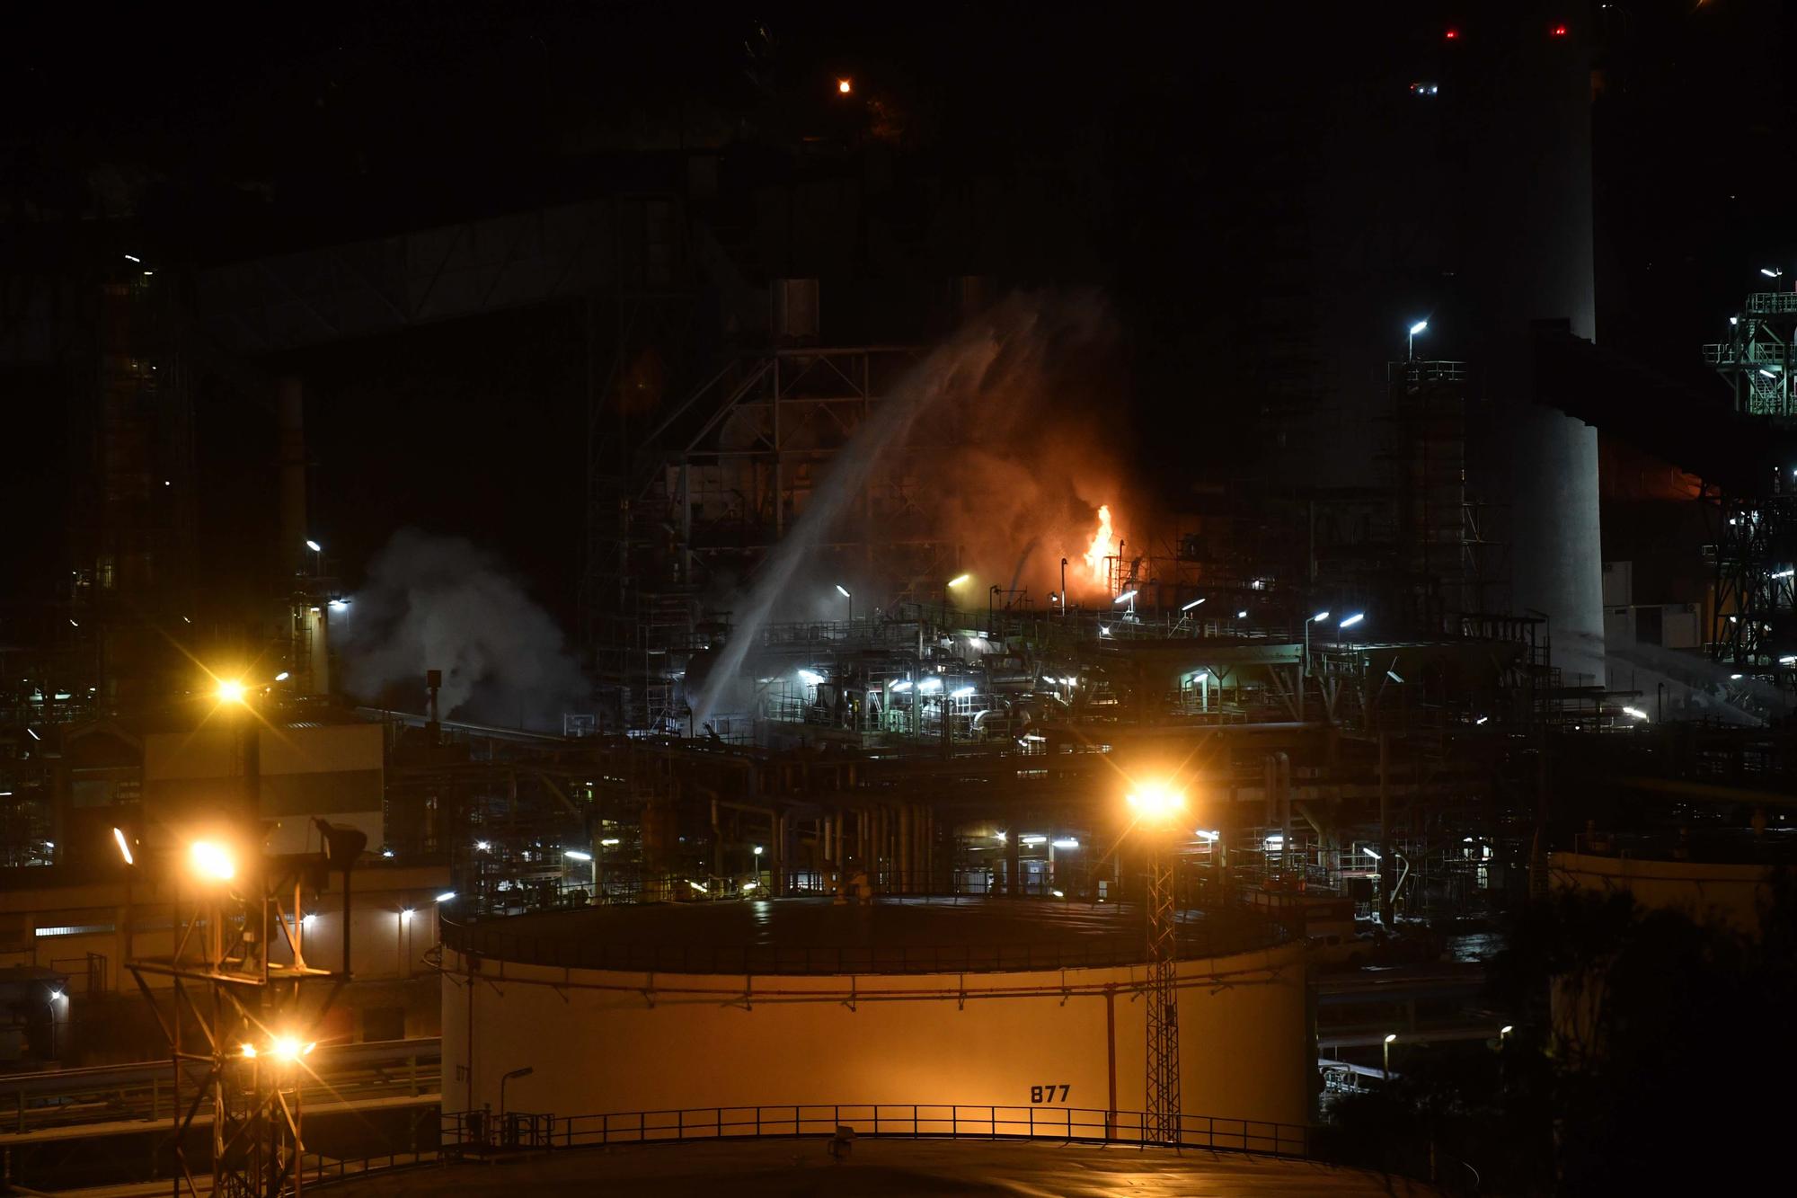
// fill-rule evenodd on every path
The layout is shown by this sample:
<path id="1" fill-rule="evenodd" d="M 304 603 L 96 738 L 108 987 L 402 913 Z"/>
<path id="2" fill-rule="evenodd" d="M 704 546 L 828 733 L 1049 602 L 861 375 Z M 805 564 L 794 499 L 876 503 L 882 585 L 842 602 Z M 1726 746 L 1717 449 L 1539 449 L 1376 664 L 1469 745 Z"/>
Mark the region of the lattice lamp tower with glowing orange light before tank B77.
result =
<path id="1" fill-rule="evenodd" d="M 1136 826 L 1148 838 L 1148 986 L 1146 1112 L 1143 1139 L 1179 1142 L 1179 944 L 1173 923 L 1173 862 L 1166 836 L 1186 809 L 1186 795 L 1168 782 L 1138 786 L 1129 795 Z"/>

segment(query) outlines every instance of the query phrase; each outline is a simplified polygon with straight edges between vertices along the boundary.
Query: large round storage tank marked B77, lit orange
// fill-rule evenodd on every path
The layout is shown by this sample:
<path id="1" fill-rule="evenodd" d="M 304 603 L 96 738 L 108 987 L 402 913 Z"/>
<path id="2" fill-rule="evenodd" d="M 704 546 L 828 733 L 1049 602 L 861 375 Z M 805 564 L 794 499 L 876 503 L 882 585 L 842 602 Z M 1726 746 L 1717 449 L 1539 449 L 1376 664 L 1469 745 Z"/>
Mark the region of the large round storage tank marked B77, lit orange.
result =
<path id="1" fill-rule="evenodd" d="M 444 1110 L 1145 1104 L 1139 908 L 724 901 L 444 923 Z M 1308 1122 L 1301 944 L 1182 925 L 1186 1115 Z M 521 1074 L 519 1070 L 530 1070 Z M 1091 1115 L 1082 1115 L 1089 1119 Z"/>

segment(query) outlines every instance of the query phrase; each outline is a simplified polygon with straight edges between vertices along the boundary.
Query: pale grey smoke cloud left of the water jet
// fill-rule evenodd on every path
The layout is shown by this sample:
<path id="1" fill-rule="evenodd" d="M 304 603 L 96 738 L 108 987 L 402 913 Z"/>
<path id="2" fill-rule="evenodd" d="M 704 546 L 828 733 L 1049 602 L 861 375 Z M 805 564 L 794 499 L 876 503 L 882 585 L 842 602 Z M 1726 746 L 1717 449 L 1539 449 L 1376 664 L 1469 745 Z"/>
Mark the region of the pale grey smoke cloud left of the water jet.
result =
<path id="1" fill-rule="evenodd" d="M 401 529 L 331 622 L 349 689 L 424 709 L 424 671 L 444 673 L 442 718 L 559 732 L 591 711 L 591 687 L 555 621 L 498 558 L 458 536 Z"/>

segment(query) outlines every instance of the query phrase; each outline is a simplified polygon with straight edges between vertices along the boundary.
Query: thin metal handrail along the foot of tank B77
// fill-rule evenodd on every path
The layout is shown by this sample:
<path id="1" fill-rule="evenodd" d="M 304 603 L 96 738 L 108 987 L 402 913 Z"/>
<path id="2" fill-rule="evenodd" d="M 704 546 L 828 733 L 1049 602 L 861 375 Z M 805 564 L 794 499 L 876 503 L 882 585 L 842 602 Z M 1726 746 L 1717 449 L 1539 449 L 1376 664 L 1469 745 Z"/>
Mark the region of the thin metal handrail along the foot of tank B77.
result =
<path id="1" fill-rule="evenodd" d="M 902 1139 L 1048 1139 L 1141 1148 L 1208 1148 L 1213 1151 L 1308 1157 L 1310 1128 L 1261 1119 L 1179 1115 L 1173 1139 L 1154 1139 L 1143 1112 L 1093 1106 L 979 1106 L 956 1103 L 782 1103 L 778 1106 L 692 1106 L 604 1115 L 550 1115 L 485 1110 L 444 1112 L 440 1153 L 485 1155 L 510 1149 L 604 1148 L 663 1140 L 740 1140 L 828 1137 L 854 1128 L 857 1137 Z"/>

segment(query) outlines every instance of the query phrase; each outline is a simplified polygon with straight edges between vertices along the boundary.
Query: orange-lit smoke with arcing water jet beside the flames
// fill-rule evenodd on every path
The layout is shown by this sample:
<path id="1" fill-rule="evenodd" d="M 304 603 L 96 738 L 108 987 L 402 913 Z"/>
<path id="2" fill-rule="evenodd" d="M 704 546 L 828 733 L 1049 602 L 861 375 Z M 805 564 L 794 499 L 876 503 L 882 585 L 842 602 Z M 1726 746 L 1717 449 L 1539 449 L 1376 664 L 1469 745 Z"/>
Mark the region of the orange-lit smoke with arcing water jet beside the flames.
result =
<path id="1" fill-rule="evenodd" d="M 960 595 L 965 606 L 983 606 L 990 586 L 1028 586 L 1040 604 L 1060 586 L 1060 558 L 1071 559 L 1069 590 L 1096 590 L 1080 554 L 1098 505 L 1116 502 L 1121 446 L 1107 430 L 1120 423 L 1120 396 L 1103 378 L 1111 342 L 1112 324 L 1093 295 L 1015 295 L 890 389 L 836 453 L 749 594 L 719 597 L 735 630 L 703 691 L 688 696 L 695 720 L 731 702 L 722 694 L 767 621 L 841 619 L 846 601 L 832 583 L 861 595 L 863 615 L 890 601 L 900 579 L 884 563 L 821 567 L 818 554 L 841 540 L 834 532 L 854 536 L 848 525 L 866 489 L 915 496 L 929 525 L 920 531 L 961 545 L 958 568 L 974 576 Z"/>

